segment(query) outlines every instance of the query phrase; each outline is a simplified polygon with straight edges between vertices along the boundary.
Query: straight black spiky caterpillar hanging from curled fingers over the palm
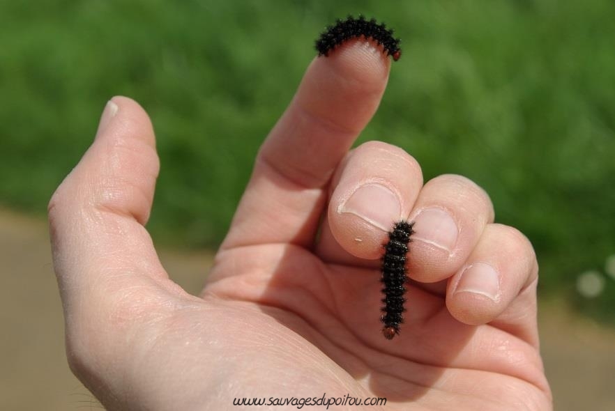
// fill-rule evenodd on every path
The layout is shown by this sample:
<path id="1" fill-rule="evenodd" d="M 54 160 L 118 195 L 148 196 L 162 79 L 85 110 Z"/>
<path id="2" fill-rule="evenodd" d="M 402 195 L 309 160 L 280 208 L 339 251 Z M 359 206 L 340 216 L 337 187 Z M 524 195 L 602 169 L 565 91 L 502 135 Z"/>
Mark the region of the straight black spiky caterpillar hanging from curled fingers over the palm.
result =
<path id="1" fill-rule="evenodd" d="M 382 334 L 388 340 L 393 339 L 396 334 L 400 334 L 400 325 L 404 322 L 403 313 L 406 298 L 406 254 L 408 253 L 408 243 L 410 236 L 414 233 L 412 226 L 414 222 L 401 221 L 395 223 L 393 231 L 388 233 L 388 242 L 384 245 L 384 256 L 382 256 L 382 278 L 384 284 L 384 314 L 380 320 L 384 323 Z"/>

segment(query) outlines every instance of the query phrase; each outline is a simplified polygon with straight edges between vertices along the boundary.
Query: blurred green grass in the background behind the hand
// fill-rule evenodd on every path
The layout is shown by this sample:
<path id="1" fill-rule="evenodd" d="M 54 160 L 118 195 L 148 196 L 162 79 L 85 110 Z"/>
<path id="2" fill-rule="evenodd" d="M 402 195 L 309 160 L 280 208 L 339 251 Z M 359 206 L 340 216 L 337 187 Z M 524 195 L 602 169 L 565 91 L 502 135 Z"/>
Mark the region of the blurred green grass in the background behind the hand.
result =
<path id="1" fill-rule="evenodd" d="M 336 17 L 396 29 L 377 115 L 425 178 L 460 173 L 529 236 L 540 292 L 615 321 L 615 2 L 0 0 L 0 202 L 43 214 L 116 94 L 153 120 L 158 244 L 215 248 L 259 144 Z"/>

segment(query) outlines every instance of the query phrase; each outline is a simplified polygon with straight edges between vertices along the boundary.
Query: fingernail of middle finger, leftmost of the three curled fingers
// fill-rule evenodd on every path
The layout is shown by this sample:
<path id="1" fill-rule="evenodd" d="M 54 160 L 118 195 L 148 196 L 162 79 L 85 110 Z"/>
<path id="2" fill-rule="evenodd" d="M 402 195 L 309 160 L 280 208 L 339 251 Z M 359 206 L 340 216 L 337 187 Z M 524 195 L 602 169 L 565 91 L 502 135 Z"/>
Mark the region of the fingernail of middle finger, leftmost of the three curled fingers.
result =
<path id="1" fill-rule="evenodd" d="M 340 214 L 354 214 L 365 222 L 389 231 L 391 224 L 400 217 L 402 206 L 393 191 L 377 183 L 365 184 L 337 207 Z"/>

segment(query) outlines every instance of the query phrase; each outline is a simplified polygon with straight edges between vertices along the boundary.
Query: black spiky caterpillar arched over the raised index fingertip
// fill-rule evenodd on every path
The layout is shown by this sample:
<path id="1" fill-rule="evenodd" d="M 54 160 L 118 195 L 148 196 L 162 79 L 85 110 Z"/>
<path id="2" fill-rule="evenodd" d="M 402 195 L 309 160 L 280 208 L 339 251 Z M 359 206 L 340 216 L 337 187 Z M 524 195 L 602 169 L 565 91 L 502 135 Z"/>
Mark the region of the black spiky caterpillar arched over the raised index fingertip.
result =
<path id="1" fill-rule="evenodd" d="M 337 19 L 335 25 L 328 26 L 326 31 L 321 33 L 320 38 L 316 40 L 318 55 L 328 56 L 329 52 L 341 45 L 342 42 L 360 36 L 373 38 L 378 45 L 384 47 L 384 52 L 388 56 L 393 56 L 395 61 L 402 56 L 401 40 L 393 38 L 393 29 L 386 29 L 384 23 L 377 24 L 375 19 L 365 20 L 362 15 L 359 15 L 358 19 L 352 16 L 346 17 L 346 20 Z"/>

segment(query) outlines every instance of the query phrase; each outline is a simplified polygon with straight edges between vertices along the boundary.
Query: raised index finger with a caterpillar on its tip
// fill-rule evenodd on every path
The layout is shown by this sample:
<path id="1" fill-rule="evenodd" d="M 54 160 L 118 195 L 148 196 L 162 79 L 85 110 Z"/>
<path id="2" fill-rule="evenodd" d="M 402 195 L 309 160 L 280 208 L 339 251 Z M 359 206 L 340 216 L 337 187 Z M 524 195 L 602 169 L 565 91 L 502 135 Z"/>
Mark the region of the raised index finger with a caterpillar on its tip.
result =
<path id="1" fill-rule="evenodd" d="M 381 47 L 364 39 L 312 61 L 259 150 L 222 249 L 267 242 L 312 245 L 328 180 L 374 115 L 389 68 Z"/>

